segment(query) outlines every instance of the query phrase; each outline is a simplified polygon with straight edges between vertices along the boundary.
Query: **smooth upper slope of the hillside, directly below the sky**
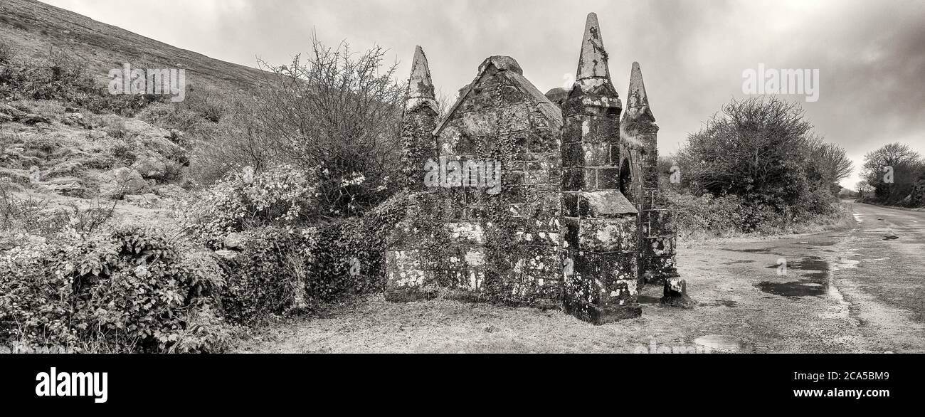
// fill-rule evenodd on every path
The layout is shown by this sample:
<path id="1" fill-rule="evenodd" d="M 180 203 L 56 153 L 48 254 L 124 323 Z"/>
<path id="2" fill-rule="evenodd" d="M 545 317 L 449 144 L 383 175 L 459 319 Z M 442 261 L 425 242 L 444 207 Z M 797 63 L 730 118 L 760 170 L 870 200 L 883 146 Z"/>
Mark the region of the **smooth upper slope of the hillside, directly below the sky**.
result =
<path id="1" fill-rule="evenodd" d="M 35 0 L 0 2 L 0 39 L 18 55 L 46 55 L 56 48 L 86 60 L 94 76 L 105 80 L 111 68 L 175 67 L 187 70 L 192 86 L 218 90 L 253 85 L 261 71 L 160 43 L 77 13 Z"/>

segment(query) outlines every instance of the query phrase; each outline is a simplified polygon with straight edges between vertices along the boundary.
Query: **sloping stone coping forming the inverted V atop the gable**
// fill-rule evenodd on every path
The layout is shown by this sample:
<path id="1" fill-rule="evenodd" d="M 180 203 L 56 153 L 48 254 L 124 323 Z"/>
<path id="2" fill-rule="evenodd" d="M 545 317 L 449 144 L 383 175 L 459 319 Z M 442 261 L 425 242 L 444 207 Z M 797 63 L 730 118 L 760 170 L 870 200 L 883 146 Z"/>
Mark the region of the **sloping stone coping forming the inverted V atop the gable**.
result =
<path id="1" fill-rule="evenodd" d="M 459 99 L 456 100 L 450 107 L 450 111 L 447 112 L 446 116 L 443 117 L 443 120 L 440 120 L 440 123 L 437 126 L 437 129 L 434 130 L 434 136 L 438 136 L 440 131 L 446 127 L 447 123 L 462 105 L 465 100 L 468 99 L 469 94 L 473 91 L 479 81 L 484 78 L 489 69 L 495 68 L 508 80 L 511 80 L 512 83 L 517 86 L 522 92 L 524 92 L 528 97 L 536 101 L 537 108 L 544 116 L 549 117 L 550 120 L 557 122 L 560 126 L 562 124 L 562 112 L 558 105 L 552 104 L 546 95 L 543 95 L 539 89 L 533 85 L 530 80 L 527 80 L 524 77 L 524 70 L 517 64 L 517 61 L 514 60 L 511 56 L 495 55 L 489 56 L 478 66 L 478 75 L 475 76 L 475 80 L 469 83 L 469 85 L 462 88 L 460 92 Z"/>

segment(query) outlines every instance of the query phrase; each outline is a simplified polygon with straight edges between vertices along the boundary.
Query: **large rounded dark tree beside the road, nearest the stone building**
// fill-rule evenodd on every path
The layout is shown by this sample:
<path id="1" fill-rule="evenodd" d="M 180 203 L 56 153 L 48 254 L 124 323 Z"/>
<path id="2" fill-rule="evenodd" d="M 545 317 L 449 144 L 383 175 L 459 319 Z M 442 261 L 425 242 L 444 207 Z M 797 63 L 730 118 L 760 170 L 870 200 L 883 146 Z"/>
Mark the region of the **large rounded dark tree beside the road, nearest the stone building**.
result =
<path id="1" fill-rule="evenodd" d="M 734 194 L 778 211 L 819 209 L 834 201 L 833 185 L 850 166 L 844 152 L 821 143 L 812 128 L 796 103 L 733 100 L 677 153 L 682 181 L 695 194 Z M 814 167 L 815 157 L 825 164 Z"/>

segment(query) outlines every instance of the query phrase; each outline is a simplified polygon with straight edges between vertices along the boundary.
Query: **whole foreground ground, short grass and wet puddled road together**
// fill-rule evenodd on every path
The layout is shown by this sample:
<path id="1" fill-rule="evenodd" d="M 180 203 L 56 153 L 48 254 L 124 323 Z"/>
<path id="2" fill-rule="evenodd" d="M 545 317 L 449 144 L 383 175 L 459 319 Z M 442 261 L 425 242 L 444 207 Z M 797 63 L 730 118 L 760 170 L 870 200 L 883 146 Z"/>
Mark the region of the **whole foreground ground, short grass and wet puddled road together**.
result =
<path id="1" fill-rule="evenodd" d="M 370 296 L 266 326 L 235 351 L 925 351 L 925 214 L 853 210 L 857 223 L 843 230 L 683 243 L 679 272 L 697 300 L 692 310 L 660 306 L 653 286 L 640 294 L 641 318 L 600 326 L 559 311 Z"/>

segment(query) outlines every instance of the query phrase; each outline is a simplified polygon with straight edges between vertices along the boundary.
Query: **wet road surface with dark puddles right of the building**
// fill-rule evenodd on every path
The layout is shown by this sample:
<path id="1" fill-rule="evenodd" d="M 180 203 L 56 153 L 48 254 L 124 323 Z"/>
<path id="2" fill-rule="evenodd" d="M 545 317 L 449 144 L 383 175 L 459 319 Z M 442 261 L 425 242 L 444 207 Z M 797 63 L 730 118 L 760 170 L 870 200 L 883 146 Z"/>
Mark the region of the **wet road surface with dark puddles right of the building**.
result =
<path id="1" fill-rule="evenodd" d="M 855 224 L 841 230 L 683 245 L 697 308 L 643 302 L 644 316 L 714 351 L 925 352 L 925 213 L 845 203 Z"/>

